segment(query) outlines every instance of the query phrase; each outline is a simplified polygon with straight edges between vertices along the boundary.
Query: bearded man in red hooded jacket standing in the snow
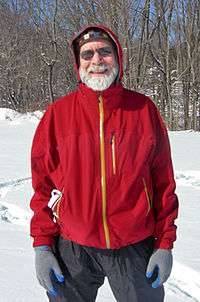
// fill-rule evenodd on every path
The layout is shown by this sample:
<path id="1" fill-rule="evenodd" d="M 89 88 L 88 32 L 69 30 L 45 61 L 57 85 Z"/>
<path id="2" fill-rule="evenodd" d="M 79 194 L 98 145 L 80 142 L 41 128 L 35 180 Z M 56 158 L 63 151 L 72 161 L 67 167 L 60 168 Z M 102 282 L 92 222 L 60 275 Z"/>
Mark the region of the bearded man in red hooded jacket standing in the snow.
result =
<path id="1" fill-rule="evenodd" d="M 38 280 L 49 301 L 95 301 L 107 276 L 119 302 L 161 302 L 178 208 L 166 128 L 122 86 L 111 30 L 86 27 L 72 49 L 79 87 L 49 106 L 32 146 Z"/>

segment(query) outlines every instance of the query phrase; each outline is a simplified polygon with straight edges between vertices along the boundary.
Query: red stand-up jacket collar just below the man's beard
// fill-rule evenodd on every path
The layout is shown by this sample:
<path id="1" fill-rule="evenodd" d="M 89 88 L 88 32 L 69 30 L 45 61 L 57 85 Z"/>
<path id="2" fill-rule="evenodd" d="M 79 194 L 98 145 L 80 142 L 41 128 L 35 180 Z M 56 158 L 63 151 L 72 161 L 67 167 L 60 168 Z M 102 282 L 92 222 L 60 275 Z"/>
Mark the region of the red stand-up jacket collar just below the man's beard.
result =
<path id="1" fill-rule="evenodd" d="M 112 84 L 109 88 L 103 91 L 94 91 L 84 83 L 80 83 L 78 91 L 81 94 L 80 101 L 83 105 L 91 108 L 98 108 L 100 95 L 103 98 L 105 110 L 117 109 L 122 105 L 123 86 L 121 83 Z"/>

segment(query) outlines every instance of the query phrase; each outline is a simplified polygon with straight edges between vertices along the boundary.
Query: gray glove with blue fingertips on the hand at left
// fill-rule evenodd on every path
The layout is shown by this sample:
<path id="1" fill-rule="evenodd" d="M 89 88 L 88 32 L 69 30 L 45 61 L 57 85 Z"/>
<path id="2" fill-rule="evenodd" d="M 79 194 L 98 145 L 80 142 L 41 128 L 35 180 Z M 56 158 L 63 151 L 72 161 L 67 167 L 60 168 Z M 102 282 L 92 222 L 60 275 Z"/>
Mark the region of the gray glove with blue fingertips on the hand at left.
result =
<path id="1" fill-rule="evenodd" d="M 52 284 L 52 274 L 59 282 L 64 282 L 64 276 L 56 257 L 54 256 L 50 246 L 37 246 L 35 250 L 35 268 L 37 279 L 42 287 L 44 287 L 51 295 L 56 296 L 57 291 Z"/>

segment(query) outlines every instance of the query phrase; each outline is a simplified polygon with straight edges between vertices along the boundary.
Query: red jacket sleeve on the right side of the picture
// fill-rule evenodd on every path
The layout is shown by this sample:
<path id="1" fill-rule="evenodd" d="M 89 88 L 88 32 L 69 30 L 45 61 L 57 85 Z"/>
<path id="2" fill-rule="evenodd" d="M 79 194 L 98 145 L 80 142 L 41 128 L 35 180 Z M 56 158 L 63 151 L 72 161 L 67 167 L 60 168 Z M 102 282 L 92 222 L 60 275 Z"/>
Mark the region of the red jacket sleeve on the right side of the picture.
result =
<path id="1" fill-rule="evenodd" d="M 157 137 L 151 166 L 153 207 L 156 221 L 154 229 L 155 248 L 171 249 L 176 240 L 174 221 L 178 215 L 178 198 L 175 194 L 176 184 L 167 129 L 155 106 L 153 106 L 152 115 Z"/>

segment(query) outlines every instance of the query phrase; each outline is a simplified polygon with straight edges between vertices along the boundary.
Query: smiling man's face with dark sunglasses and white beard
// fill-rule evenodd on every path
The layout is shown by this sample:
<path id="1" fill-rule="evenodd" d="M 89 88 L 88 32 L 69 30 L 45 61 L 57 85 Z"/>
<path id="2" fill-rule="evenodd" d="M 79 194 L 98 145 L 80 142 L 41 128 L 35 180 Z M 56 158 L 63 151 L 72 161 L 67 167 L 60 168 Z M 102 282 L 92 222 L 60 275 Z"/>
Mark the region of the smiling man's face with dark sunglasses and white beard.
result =
<path id="1" fill-rule="evenodd" d="M 93 90 L 108 88 L 118 74 L 118 63 L 112 44 L 99 40 L 88 42 L 80 48 L 80 77 Z"/>

